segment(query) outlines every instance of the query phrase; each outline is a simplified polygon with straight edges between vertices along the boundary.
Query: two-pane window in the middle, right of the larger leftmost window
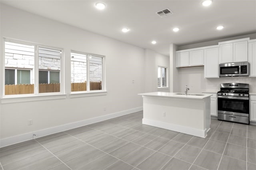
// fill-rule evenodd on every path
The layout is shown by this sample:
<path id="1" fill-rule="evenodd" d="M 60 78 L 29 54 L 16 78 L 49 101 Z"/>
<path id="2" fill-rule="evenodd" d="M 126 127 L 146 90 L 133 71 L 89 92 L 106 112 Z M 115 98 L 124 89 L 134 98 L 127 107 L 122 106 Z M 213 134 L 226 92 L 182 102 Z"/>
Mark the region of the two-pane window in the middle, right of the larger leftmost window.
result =
<path id="1" fill-rule="evenodd" d="M 71 91 L 103 90 L 103 63 L 103 56 L 72 52 Z"/>

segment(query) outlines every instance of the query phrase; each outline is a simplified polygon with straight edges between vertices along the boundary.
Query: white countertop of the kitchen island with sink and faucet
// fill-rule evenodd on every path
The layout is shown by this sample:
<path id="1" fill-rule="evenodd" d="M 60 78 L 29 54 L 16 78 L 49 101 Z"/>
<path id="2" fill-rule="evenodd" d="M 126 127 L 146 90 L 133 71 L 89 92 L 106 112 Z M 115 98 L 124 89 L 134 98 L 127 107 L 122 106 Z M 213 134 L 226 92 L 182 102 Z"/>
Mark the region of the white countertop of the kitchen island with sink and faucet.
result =
<path id="1" fill-rule="evenodd" d="M 172 97 L 172 98 L 186 98 L 186 99 L 204 99 L 206 97 L 211 96 L 211 95 L 206 95 L 206 94 L 192 94 L 192 93 L 188 93 L 188 95 L 178 95 L 177 93 L 168 93 L 168 92 L 140 93 L 138 95 L 158 96 L 158 97 Z"/>

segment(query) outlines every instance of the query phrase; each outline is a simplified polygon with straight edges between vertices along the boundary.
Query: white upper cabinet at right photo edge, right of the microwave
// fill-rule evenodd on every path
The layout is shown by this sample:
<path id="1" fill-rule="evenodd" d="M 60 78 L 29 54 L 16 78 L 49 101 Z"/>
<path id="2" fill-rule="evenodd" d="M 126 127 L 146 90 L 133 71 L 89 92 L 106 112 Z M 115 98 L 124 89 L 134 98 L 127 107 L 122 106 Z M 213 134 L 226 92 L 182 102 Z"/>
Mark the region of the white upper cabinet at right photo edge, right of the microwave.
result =
<path id="1" fill-rule="evenodd" d="M 256 40 L 248 41 L 248 62 L 250 63 L 249 77 L 256 77 Z"/>

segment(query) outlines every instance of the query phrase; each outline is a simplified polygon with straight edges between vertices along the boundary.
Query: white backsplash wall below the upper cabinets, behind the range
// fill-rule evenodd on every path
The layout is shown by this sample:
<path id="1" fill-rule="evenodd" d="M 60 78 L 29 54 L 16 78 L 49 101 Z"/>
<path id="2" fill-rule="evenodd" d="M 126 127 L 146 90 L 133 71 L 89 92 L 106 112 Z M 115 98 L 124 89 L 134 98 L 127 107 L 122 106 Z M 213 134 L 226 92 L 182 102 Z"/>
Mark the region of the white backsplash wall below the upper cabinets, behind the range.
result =
<path id="1" fill-rule="evenodd" d="M 179 92 L 184 93 L 188 85 L 188 93 L 202 93 L 202 91 L 219 91 L 221 83 L 247 83 L 250 92 L 256 92 L 256 77 L 221 77 L 214 79 L 204 78 L 204 66 L 178 68 Z"/>

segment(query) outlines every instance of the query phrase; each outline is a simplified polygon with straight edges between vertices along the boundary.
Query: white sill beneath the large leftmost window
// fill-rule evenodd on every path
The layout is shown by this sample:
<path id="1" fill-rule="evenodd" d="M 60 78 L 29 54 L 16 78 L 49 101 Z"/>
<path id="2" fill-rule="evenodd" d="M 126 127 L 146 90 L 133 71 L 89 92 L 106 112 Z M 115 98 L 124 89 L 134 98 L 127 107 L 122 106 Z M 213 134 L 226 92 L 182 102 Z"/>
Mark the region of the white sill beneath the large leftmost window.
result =
<path id="1" fill-rule="evenodd" d="M 66 99 L 66 94 L 3 97 L 1 98 L 1 104 L 55 99 Z"/>

